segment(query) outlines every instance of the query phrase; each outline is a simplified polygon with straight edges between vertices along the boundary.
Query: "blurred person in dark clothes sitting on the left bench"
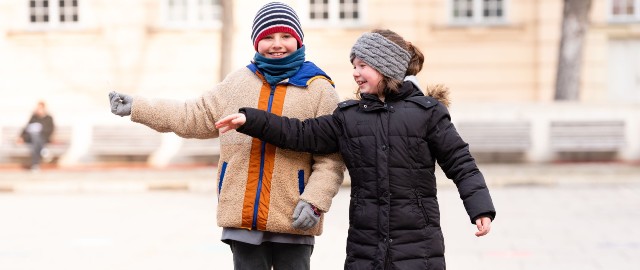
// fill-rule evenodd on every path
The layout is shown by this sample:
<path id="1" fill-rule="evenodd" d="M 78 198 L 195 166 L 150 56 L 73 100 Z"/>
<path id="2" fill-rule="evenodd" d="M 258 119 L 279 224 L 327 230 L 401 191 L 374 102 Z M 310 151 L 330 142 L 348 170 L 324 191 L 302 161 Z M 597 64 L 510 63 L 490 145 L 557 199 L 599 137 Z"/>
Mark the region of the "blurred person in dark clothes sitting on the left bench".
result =
<path id="1" fill-rule="evenodd" d="M 40 163 L 43 157 L 45 160 L 50 157 L 46 145 L 51 142 L 54 130 L 53 117 L 47 112 L 45 102 L 39 101 L 29 122 L 22 129 L 22 133 L 16 141 L 18 144 L 27 143 L 31 147 L 31 164 L 29 168 L 32 171 L 40 170 Z"/>

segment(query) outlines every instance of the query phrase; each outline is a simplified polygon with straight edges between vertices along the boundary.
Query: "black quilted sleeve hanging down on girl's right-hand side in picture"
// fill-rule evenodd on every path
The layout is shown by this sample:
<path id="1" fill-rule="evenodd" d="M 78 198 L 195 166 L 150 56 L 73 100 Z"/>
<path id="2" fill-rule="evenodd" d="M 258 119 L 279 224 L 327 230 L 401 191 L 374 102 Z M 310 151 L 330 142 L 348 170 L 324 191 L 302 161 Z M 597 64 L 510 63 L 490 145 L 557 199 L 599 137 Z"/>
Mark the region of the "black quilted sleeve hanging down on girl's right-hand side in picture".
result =
<path id="1" fill-rule="evenodd" d="M 496 210 L 484 176 L 444 105 L 439 103 L 433 107 L 428 125 L 431 151 L 447 177 L 456 184 L 471 223 L 475 224 L 476 218 L 484 215 L 493 220 Z"/>

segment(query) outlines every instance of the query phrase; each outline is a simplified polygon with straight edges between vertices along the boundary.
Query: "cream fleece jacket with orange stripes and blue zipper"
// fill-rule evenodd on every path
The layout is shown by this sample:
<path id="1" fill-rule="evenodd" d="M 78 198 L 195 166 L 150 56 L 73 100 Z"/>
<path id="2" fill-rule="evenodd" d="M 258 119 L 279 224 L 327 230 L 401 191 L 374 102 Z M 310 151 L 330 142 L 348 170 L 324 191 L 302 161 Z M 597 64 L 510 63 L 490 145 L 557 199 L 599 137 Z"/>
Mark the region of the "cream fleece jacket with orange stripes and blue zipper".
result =
<path id="1" fill-rule="evenodd" d="M 286 85 L 286 94 L 280 101 L 274 101 L 282 103 L 282 115 L 307 119 L 333 112 L 339 98 L 331 83 L 315 79 L 308 84 L 306 88 Z M 291 216 L 300 199 L 329 211 L 343 181 L 345 167 L 339 154 L 311 155 L 273 146 L 275 153 L 270 153 L 269 146 L 261 150 L 257 139 L 235 131 L 219 134 L 215 128 L 216 121 L 241 107 L 264 106 L 260 102 L 264 103 L 269 88 L 261 76 L 242 68 L 196 99 L 135 96 L 131 120 L 185 138 L 220 138 L 218 226 L 320 235 L 323 219 L 314 228 L 301 231 L 291 226 Z M 261 155 L 263 163 L 256 163 Z M 271 173 L 258 168 L 260 164 L 272 166 Z M 256 176 L 256 172 L 262 172 L 259 174 L 262 177 Z"/>

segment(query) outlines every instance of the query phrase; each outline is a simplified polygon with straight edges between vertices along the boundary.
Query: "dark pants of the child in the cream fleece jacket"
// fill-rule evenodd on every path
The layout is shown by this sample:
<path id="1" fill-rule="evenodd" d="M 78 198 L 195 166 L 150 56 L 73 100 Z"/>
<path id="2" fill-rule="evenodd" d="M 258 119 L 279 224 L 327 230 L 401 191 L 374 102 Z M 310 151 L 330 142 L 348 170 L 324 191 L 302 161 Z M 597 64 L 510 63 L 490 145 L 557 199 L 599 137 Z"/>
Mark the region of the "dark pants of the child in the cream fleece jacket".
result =
<path id="1" fill-rule="evenodd" d="M 309 270 L 312 245 L 230 241 L 235 270 Z"/>

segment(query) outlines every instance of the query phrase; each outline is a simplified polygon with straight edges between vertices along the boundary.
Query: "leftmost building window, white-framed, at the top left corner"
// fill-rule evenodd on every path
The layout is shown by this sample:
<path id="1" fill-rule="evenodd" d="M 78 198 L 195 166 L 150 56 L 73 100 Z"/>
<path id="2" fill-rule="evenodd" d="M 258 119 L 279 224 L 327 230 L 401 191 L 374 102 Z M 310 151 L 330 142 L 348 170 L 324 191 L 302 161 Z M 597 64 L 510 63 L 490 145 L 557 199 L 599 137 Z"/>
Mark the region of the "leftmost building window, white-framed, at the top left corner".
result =
<path id="1" fill-rule="evenodd" d="M 78 0 L 29 0 L 32 24 L 73 24 L 78 22 Z"/>

